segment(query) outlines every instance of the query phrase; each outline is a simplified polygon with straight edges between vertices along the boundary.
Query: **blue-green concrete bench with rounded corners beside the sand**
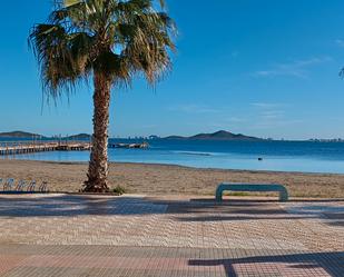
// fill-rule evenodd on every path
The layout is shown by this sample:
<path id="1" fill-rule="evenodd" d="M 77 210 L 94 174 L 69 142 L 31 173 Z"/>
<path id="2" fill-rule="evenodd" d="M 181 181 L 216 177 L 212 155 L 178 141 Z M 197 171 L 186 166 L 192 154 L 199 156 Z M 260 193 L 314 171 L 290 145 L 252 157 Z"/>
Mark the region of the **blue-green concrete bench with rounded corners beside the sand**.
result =
<path id="1" fill-rule="evenodd" d="M 216 189 L 216 201 L 223 200 L 224 191 L 258 191 L 258 192 L 279 192 L 279 201 L 288 200 L 288 191 L 282 185 L 258 185 L 258 184 L 220 184 Z"/>

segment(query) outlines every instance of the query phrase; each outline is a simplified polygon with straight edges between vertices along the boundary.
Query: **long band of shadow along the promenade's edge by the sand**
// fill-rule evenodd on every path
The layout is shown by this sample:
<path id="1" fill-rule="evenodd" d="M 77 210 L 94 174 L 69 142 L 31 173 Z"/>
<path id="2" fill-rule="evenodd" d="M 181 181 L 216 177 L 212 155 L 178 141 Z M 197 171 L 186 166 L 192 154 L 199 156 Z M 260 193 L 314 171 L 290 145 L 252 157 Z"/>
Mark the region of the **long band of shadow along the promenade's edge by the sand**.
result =
<path id="1" fill-rule="evenodd" d="M 0 196 L 1 217 L 75 217 L 75 216 L 140 216 L 173 215 L 179 221 L 225 221 L 259 219 L 309 219 L 321 214 L 292 215 L 286 210 L 259 200 L 233 200 L 217 204 L 214 200 L 161 200 L 145 197 L 107 197 L 87 195 Z M 326 224 L 343 227 L 341 208 L 325 214 Z"/>

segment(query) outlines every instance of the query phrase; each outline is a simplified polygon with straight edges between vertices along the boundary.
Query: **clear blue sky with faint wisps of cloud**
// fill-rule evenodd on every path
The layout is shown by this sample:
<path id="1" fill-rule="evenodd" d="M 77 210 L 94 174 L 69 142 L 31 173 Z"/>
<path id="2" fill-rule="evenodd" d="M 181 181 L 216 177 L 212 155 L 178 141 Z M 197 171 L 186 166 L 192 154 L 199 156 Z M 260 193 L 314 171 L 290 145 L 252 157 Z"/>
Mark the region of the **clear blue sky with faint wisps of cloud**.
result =
<path id="1" fill-rule="evenodd" d="M 0 131 L 91 132 L 92 91 L 43 105 L 27 47 L 51 0 L 4 1 Z M 155 90 L 115 89 L 111 136 L 226 129 L 259 137 L 344 138 L 344 1 L 168 1 L 179 29 L 174 71 Z"/>

